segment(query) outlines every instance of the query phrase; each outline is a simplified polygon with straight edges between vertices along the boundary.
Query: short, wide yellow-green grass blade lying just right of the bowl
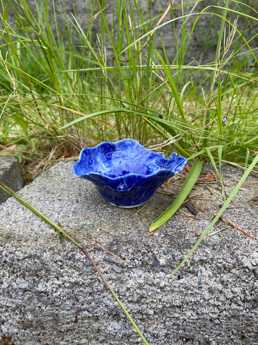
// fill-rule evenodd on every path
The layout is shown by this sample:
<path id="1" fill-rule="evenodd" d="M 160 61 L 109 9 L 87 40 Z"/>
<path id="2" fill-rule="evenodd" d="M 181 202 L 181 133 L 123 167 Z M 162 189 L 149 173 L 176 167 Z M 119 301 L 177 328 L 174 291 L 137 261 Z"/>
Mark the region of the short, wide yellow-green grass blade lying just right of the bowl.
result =
<path id="1" fill-rule="evenodd" d="M 150 226 L 149 231 L 153 231 L 159 227 L 161 227 L 164 223 L 167 222 L 169 218 L 172 217 L 173 214 L 177 212 L 177 210 L 180 208 L 182 203 L 184 202 L 185 198 L 188 196 L 188 194 L 191 192 L 193 186 L 195 185 L 197 178 L 200 175 L 201 168 L 202 168 L 203 161 L 196 160 L 193 166 L 191 167 L 185 181 L 183 182 L 183 185 L 181 187 L 180 192 L 178 193 L 178 196 L 175 198 L 172 205 L 170 205 L 166 211 L 164 211 L 162 214 L 160 214 Z"/>

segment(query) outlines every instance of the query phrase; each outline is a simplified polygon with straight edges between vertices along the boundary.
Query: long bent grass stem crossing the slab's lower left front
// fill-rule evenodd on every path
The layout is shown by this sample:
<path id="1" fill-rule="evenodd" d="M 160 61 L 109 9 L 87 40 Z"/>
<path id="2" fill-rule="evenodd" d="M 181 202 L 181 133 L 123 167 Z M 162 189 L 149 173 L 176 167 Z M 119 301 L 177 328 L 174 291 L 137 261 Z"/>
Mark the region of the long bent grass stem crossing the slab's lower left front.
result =
<path id="1" fill-rule="evenodd" d="M 77 243 L 71 236 L 69 236 L 65 230 L 63 228 L 61 228 L 59 225 L 56 225 L 55 223 L 53 223 L 50 219 L 48 219 L 44 214 L 42 214 L 39 210 L 37 210 L 35 207 L 33 207 L 32 205 L 30 205 L 26 200 L 24 200 L 22 197 L 20 197 L 18 194 L 16 194 L 13 190 L 11 190 L 9 187 L 7 187 L 4 183 L 0 182 L 0 187 L 7 192 L 8 194 L 10 194 L 12 197 L 14 197 L 16 200 L 18 200 L 22 205 L 24 205 L 25 207 L 27 207 L 30 211 L 32 211 L 34 214 L 36 214 L 37 216 L 39 216 L 41 219 L 43 219 L 47 224 L 49 224 L 52 228 L 54 228 L 56 231 L 59 232 L 59 234 L 63 234 L 64 236 L 66 236 L 70 241 L 72 241 L 76 246 L 78 246 L 83 253 L 87 256 L 87 258 L 89 259 L 89 261 L 91 262 L 91 264 L 93 265 L 93 267 L 95 268 L 95 270 L 97 271 L 97 273 L 100 275 L 101 279 L 105 282 L 106 286 L 108 287 L 109 291 L 111 292 L 111 294 L 115 297 L 116 301 L 118 302 L 118 304 L 120 305 L 122 311 L 125 313 L 125 315 L 127 316 L 127 318 L 130 320 L 131 324 L 134 326 L 134 328 L 136 329 L 138 335 L 141 337 L 142 341 L 144 344 L 149 345 L 147 340 L 144 338 L 143 334 L 141 333 L 141 331 L 138 329 L 136 323 L 134 322 L 134 320 L 132 319 L 132 317 L 130 316 L 130 314 L 127 312 L 127 310 L 125 309 L 125 307 L 123 306 L 122 302 L 120 301 L 120 299 L 118 298 L 118 296 L 115 294 L 115 292 L 113 291 L 113 289 L 111 288 L 111 286 L 108 284 L 108 282 L 106 281 L 105 277 L 103 276 L 103 274 L 101 273 L 101 271 L 98 269 L 98 267 L 96 266 L 96 264 L 93 262 L 93 260 L 91 259 L 91 256 L 89 255 L 89 253 L 85 250 L 85 248 L 83 246 L 81 246 L 79 243 Z"/>

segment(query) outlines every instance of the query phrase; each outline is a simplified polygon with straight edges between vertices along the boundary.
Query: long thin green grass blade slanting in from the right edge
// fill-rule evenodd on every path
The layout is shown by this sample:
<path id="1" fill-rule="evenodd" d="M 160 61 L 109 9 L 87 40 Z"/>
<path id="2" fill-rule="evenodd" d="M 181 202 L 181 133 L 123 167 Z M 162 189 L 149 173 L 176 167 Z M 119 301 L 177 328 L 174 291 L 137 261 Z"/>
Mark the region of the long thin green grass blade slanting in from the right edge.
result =
<path id="1" fill-rule="evenodd" d="M 250 172 L 253 170 L 255 165 L 258 163 L 258 155 L 255 157 L 253 162 L 249 165 L 248 169 L 245 170 L 242 178 L 234 188 L 233 192 L 230 194 L 228 199 L 225 201 L 225 204 L 220 209 L 219 213 L 213 218 L 211 224 L 208 226 L 208 228 L 203 232 L 203 234 L 199 237 L 197 243 L 195 246 L 190 250 L 190 252 L 186 255 L 186 257 L 182 260 L 182 262 L 177 266 L 177 268 L 173 271 L 172 276 L 182 267 L 182 265 L 189 259 L 189 257 L 193 254 L 193 252 L 196 250 L 197 246 L 201 243 L 202 239 L 208 234 L 208 232 L 212 229 L 213 225 L 217 222 L 217 220 L 220 218 L 220 216 L 223 214 L 223 212 L 228 207 L 229 203 L 235 197 L 237 192 L 239 191 L 239 188 L 242 186 L 243 182 L 246 180 L 247 176 L 250 174 Z"/>

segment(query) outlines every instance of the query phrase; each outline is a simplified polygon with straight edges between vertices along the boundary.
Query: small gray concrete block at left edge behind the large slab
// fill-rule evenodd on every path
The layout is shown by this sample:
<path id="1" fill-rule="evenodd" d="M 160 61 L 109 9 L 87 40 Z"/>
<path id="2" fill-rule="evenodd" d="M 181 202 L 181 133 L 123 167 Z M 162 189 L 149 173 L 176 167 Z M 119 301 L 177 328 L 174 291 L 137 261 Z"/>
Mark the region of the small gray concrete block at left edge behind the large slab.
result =
<path id="1" fill-rule="evenodd" d="M 0 181 L 15 192 L 22 188 L 21 169 L 17 157 L 0 156 Z M 0 188 L 0 204 L 8 197 L 9 194 Z"/>

